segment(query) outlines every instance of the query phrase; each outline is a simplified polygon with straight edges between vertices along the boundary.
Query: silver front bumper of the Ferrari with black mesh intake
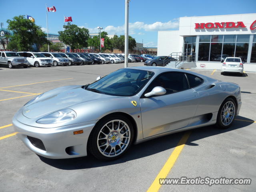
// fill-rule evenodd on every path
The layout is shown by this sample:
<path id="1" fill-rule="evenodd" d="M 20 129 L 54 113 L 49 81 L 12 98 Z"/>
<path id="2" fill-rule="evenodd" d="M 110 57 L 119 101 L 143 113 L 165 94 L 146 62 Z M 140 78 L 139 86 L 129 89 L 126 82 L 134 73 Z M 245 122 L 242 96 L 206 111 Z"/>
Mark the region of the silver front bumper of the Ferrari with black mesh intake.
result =
<path id="1" fill-rule="evenodd" d="M 52 159 L 74 158 L 87 155 L 87 141 L 97 121 L 90 121 L 57 128 L 38 128 L 28 126 L 16 120 L 12 123 L 18 138 L 33 152 Z M 74 131 L 83 130 L 82 134 L 74 135 Z M 32 144 L 28 136 L 42 141 L 45 150 Z"/>

